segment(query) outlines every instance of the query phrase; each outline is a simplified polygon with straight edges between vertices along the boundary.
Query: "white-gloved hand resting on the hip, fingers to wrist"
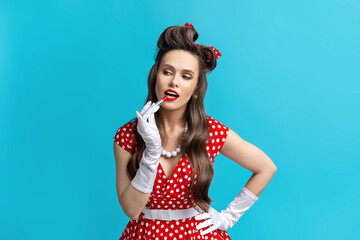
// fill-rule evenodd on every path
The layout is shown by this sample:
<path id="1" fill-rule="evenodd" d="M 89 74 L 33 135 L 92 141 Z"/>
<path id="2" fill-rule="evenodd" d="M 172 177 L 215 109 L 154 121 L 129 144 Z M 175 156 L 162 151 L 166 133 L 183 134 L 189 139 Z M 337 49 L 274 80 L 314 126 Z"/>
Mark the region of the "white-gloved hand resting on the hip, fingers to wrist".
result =
<path id="1" fill-rule="evenodd" d="M 210 226 L 205 231 L 201 231 L 200 232 L 201 235 L 208 234 L 209 232 L 212 232 L 216 229 L 226 230 L 229 228 L 229 227 L 227 227 L 228 221 L 229 221 L 227 219 L 227 217 L 223 213 L 216 211 L 212 207 L 209 207 L 208 213 L 204 212 L 202 214 L 195 216 L 195 220 L 203 220 L 203 219 L 207 219 L 207 218 L 208 218 L 208 220 L 206 220 L 196 226 L 196 229 L 202 229 L 202 228 L 206 228 L 206 227 Z"/>

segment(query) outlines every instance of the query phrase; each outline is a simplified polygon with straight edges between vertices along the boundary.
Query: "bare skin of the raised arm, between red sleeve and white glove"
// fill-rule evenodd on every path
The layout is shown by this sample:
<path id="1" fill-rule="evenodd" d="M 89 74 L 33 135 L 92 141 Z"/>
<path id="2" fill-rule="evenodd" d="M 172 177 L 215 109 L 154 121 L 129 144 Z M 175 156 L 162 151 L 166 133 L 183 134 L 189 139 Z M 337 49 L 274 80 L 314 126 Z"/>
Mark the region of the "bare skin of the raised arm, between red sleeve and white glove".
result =
<path id="1" fill-rule="evenodd" d="M 150 193 L 143 193 L 130 184 L 126 173 L 131 154 L 114 142 L 116 165 L 116 189 L 118 200 L 126 216 L 135 220 L 140 215 L 150 197 Z"/>

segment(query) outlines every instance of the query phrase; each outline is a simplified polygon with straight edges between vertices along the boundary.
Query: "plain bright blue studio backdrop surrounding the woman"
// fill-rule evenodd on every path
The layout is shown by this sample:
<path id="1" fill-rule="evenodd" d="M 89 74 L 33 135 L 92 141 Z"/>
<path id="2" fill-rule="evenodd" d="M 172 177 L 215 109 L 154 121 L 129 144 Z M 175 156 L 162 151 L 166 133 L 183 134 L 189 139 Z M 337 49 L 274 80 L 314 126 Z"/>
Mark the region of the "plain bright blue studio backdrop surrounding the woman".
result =
<path id="1" fill-rule="evenodd" d="M 0 1 L 0 239 L 118 239 L 113 136 L 141 110 L 156 42 L 190 22 L 222 54 L 208 115 L 277 173 L 232 239 L 360 239 L 360 3 Z M 219 155 L 226 208 L 251 172 Z"/>

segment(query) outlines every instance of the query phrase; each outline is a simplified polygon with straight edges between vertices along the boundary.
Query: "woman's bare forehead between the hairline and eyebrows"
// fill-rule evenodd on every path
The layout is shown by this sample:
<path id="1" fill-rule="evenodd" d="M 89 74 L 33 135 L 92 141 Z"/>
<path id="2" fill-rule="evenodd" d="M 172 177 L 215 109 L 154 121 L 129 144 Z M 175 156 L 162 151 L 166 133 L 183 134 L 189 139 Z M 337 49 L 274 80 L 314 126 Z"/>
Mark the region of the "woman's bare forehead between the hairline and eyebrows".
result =
<path id="1" fill-rule="evenodd" d="M 167 52 L 161 60 L 160 66 L 169 64 L 176 70 L 189 69 L 197 74 L 199 72 L 199 62 L 196 56 L 184 50 L 171 50 Z"/>

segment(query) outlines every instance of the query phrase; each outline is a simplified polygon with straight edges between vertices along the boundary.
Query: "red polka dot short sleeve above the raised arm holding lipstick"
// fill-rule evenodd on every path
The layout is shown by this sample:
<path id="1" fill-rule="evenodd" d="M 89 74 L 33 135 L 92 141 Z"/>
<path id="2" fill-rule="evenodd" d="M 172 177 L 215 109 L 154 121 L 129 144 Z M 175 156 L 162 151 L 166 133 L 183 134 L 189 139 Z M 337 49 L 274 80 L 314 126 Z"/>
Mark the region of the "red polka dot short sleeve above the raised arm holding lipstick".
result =
<path id="1" fill-rule="evenodd" d="M 135 121 L 132 120 L 121 126 L 116 131 L 113 140 L 121 148 L 125 149 L 130 154 L 133 154 L 136 148 L 134 132 L 135 132 Z"/>

